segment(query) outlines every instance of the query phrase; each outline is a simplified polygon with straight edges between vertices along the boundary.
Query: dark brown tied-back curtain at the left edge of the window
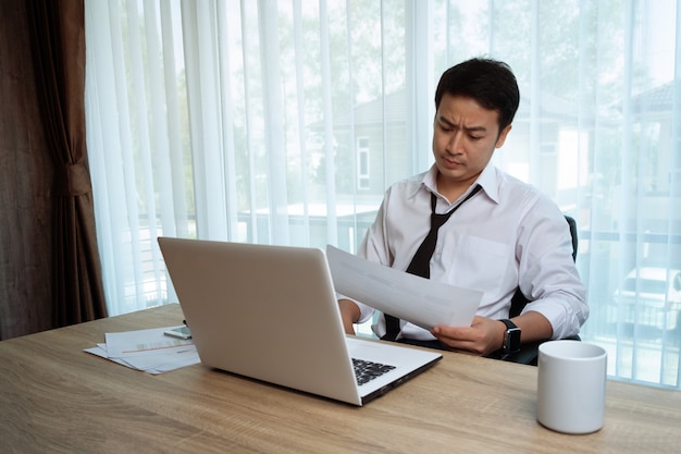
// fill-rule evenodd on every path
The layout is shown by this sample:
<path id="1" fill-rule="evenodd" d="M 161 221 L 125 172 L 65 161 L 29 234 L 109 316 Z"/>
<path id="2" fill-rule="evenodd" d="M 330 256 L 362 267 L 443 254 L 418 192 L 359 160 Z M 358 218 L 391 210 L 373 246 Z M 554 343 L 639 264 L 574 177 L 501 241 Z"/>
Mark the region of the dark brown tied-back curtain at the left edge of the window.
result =
<path id="1" fill-rule="evenodd" d="M 107 316 L 85 142 L 83 0 L 30 0 L 30 48 L 46 150 L 54 165 L 53 323 Z"/>

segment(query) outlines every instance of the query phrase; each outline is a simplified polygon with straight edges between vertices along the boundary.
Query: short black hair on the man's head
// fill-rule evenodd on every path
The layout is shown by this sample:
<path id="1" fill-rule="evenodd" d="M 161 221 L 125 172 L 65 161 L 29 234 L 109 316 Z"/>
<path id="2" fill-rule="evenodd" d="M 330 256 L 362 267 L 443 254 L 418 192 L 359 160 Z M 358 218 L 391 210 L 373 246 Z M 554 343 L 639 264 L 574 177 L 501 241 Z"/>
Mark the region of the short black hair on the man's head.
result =
<path id="1" fill-rule="evenodd" d="M 485 109 L 499 114 L 499 132 L 511 124 L 520 90 L 510 66 L 504 62 L 474 58 L 451 66 L 439 78 L 435 90 L 435 110 L 445 93 L 473 98 Z"/>

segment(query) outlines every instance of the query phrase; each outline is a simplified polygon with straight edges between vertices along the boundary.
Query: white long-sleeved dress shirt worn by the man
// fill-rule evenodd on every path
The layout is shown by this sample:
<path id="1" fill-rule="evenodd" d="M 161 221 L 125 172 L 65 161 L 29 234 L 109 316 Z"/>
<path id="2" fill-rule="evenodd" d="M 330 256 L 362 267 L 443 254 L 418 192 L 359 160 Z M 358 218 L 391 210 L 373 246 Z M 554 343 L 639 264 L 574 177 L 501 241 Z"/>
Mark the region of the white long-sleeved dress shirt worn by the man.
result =
<path id="1" fill-rule="evenodd" d="M 435 211 L 445 213 L 475 186 L 449 203 L 437 193 L 436 175 L 433 165 L 386 191 L 359 256 L 407 269 L 430 230 L 431 193 L 437 196 Z M 430 279 L 483 292 L 478 315 L 492 319 L 508 318 L 511 297 L 520 286 L 531 300 L 523 312 L 534 310 L 546 317 L 554 330 L 553 339 L 577 334 L 589 316 L 589 307 L 564 214 L 536 188 L 493 164 L 485 168 L 476 184 L 482 191 L 439 228 Z M 359 322 L 364 322 L 374 309 L 358 304 Z M 398 339 L 435 339 L 414 324 L 404 320 L 400 324 Z M 376 335 L 385 334 L 382 314 L 372 328 Z"/>

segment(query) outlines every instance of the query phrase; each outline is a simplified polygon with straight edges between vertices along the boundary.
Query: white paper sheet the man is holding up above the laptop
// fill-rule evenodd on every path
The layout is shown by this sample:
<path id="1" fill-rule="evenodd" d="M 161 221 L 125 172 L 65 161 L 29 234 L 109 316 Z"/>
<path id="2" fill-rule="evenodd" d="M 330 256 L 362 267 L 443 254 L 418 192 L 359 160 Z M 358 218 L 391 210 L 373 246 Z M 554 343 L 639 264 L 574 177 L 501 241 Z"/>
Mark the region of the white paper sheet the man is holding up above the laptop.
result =
<path id="1" fill-rule="evenodd" d="M 482 300 L 482 292 L 434 282 L 331 245 L 326 260 L 336 292 L 429 331 L 437 324 L 470 327 Z"/>

